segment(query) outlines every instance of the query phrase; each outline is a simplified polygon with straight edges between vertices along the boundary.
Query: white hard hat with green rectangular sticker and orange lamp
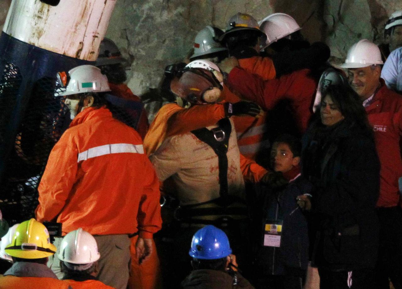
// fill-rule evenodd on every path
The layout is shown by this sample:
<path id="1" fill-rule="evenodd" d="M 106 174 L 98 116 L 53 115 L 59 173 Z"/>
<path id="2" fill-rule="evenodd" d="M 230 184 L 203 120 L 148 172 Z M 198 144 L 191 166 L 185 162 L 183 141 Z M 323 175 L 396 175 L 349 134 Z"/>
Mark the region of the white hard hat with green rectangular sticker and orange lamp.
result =
<path id="1" fill-rule="evenodd" d="M 59 74 L 61 73 L 59 72 Z M 71 69 L 68 75 L 70 76 L 70 80 L 68 80 L 66 91 L 59 95 L 110 91 L 107 76 L 102 74 L 96 66 L 77 66 Z"/>

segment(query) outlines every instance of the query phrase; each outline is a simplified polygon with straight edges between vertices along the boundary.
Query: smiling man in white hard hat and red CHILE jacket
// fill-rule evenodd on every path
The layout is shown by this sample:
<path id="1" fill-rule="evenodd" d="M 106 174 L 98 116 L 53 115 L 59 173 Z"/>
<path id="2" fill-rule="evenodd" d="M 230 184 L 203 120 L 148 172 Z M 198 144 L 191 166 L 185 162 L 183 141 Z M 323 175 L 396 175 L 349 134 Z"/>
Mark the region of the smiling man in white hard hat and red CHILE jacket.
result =
<path id="1" fill-rule="evenodd" d="M 381 53 L 374 43 L 363 39 L 348 51 L 343 68 L 349 84 L 359 94 L 373 126 L 379 156 L 380 192 L 377 213 L 380 221 L 379 260 L 375 288 L 402 288 L 402 210 L 399 206 L 398 178 L 402 176 L 400 141 L 402 97 L 389 90 L 380 78 Z"/>

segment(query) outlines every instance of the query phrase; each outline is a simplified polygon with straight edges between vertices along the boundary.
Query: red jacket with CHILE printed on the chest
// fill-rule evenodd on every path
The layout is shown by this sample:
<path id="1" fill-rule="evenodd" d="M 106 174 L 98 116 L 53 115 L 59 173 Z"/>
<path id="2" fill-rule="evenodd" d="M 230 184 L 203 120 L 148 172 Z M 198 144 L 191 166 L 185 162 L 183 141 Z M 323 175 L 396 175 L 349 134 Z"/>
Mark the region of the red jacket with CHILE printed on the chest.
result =
<path id="1" fill-rule="evenodd" d="M 366 111 L 381 164 L 377 207 L 394 207 L 400 199 L 398 178 L 402 176 L 402 96 L 382 82 Z"/>

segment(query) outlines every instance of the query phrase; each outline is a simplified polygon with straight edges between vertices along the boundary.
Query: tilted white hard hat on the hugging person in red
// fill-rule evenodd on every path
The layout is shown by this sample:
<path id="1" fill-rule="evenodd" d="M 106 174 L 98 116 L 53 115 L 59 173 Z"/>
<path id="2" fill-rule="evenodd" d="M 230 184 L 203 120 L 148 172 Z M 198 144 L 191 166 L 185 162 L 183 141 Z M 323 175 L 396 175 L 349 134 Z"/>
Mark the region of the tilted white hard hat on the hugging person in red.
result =
<path id="1" fill-rule="evenodd" d="M 292 16 L 285 13 L 274 13 L 258 22 L 260 30 L 267 35 L 267 41 L 262 48 L 300 30 L 300 26 Z"/>

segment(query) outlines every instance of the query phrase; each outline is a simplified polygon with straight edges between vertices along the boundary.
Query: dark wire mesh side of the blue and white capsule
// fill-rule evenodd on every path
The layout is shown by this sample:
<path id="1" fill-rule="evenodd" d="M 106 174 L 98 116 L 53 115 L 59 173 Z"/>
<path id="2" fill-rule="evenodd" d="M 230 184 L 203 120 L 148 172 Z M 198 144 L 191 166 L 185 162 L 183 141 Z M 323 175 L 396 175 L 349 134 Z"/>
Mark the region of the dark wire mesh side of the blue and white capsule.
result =
<path id="1" fill-rule="evenodd" d="M 5 78 L 8 78 L 7 73 L 2 81 L 6 81 Z M 42 78 L 33 85 L 0 186 L 1 210 L 10 223 L 34 217 L 40 178 L 64 127 L 64 102 L 57 96 L 61 91 L 56 89 L 53 78 Z M 15 94 L 15 90 L 1 91 L 2 111 L 11 110 L 16 104 Z"/>

